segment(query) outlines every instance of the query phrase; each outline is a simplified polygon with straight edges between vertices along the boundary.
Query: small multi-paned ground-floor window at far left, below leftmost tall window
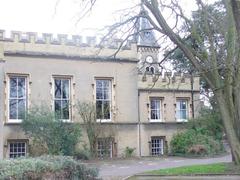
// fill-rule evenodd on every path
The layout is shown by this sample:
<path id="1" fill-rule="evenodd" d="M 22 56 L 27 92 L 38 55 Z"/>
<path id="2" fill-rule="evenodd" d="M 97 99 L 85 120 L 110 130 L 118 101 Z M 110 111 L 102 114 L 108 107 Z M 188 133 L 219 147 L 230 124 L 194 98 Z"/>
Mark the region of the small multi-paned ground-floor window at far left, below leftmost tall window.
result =
<path id="1" fill-rule="evenodd" d="M 25 157 L 27 154 L 27 143 L 24 141 L 13 141 L 8 143 L 9 158 Z"/>

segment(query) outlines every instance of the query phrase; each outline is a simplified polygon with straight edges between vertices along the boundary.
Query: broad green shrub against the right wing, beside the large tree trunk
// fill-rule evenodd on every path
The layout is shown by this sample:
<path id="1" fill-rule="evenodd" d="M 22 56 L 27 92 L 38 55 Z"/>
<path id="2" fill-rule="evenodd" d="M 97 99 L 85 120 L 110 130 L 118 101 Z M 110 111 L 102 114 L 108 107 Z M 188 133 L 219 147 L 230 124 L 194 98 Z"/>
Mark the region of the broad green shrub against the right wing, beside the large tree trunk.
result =
<path id="1" fill-rule="evenodd" d="M 200 115 L 189 120 L 185 131 L 173 136 L 170 142 L 173 155 L 214 155 L 223 151 L 219 115 L 211 109 L 203 109 Z"/>

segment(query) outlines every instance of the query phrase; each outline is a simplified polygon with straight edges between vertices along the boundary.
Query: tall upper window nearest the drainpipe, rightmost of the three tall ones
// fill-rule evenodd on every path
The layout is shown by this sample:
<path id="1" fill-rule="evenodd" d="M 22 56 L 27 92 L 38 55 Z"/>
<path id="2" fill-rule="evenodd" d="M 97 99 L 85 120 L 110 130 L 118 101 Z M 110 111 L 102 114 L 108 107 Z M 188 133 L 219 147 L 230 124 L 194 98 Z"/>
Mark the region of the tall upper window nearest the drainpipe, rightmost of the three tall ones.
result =
<path id="1" fill-rule="evenodd" d="M 111 121 L 111 80 L 96 80 L 96 113 L 97 120 Z"/>

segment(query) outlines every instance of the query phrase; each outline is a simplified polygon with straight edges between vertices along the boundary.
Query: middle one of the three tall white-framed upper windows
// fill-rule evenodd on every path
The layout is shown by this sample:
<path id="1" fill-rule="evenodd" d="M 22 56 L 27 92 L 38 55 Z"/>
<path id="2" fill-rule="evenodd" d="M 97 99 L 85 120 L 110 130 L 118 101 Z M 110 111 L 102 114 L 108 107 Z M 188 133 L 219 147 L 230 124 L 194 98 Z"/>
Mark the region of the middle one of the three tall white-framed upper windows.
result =
<path id="1" fill-rule="evenodd" d="M 54 111 L 57 118 L 70 119 L 70 79 L 54 78 Z"/>

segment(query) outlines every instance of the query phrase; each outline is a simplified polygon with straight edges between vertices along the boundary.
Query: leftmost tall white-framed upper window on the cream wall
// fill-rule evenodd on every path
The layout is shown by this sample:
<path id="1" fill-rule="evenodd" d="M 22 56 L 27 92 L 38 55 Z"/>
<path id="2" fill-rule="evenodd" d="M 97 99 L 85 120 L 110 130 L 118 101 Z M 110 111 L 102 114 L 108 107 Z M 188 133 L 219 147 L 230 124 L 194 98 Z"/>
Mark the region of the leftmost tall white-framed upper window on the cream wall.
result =
<path id="1" fill-rule="evenodd" d="M 27 78 L 9 77 L 8 118 L 9 122 L 20 122 L 25 117 L 27 107 Z"/>

